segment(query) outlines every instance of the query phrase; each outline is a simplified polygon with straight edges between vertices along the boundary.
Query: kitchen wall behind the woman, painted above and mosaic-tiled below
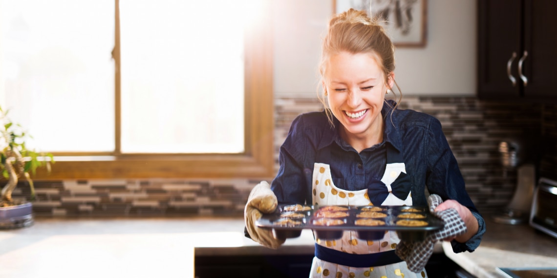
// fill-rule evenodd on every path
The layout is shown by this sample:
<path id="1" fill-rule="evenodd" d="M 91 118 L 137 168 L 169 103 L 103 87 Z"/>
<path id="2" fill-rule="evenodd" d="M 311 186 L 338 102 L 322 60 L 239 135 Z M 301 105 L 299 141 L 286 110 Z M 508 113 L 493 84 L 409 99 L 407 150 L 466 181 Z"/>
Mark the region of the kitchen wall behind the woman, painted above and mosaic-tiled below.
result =
<path id="1" fill-rule="evenodd" d="M 277 161 L 292 119 L 323 109 L 315 97 L 316 66 L 333 6 L 322 0 L 273 3 Z M 514 171 L 503 177 L 497 144 L 526 134 L 543 135 L 549 138 L 543 143 L 554 145 L 557 110 L 548 105 L 477 100 L 476 1 L 428 0 L 427 14 L 427 45 L 396 50 L 395 78 L 404 95 L 400 108 L 439 118 L 472 200 L 481 212 L 500 210 L 510 201 L 516 178 Z M 541 160 L 545 172 L 555 168 L 557 156 L 552 153 Z M 253 185 L 271 178 L 37 182 L 34 207 L 37 215 L 65 217 L 240 216 Z M 22 183 L 14 197 L 28 194 L 28 186 Z"/>

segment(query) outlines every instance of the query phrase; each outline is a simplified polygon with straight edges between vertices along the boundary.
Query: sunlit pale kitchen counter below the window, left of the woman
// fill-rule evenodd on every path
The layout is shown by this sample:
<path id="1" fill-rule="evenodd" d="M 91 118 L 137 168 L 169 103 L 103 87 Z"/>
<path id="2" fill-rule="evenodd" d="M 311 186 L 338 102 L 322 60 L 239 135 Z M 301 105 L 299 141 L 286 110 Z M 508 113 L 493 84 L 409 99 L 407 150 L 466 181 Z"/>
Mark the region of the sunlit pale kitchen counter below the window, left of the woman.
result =
<path id="1" fill-rule="evenodd" d="M 0 230 L 0 277 L 194 277 L 194 255 L 313 254 L 311 231 L 267 249 L 243 219 L 37 219 Z"/>

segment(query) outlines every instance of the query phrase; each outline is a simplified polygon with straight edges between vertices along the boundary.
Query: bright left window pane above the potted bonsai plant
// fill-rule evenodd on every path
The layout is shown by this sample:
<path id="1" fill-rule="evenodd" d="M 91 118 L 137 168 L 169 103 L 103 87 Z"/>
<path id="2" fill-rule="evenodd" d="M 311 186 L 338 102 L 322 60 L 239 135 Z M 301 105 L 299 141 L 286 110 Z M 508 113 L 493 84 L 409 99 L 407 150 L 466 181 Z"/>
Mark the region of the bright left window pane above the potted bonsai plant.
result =
<path id="1" fill-rule="evenodd" d="M 114 1 L 0 5 L 0 104 L 32 147 L 114 151 Z"/>

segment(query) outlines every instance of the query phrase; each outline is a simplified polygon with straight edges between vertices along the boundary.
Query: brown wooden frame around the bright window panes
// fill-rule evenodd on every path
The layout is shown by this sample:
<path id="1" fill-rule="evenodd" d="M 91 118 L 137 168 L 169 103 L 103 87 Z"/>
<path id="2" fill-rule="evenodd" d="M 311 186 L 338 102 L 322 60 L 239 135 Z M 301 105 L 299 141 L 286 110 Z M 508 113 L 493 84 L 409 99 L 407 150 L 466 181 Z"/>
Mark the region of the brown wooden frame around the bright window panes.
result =
<path id="1" fill-rule="evenodd" d="M 120 19 L 115 0 L 115 151 L 55 152 L 51 171 L 39 168 L 33 180 L 89 178 L 271 177 L 273 158 L 272 20 L 262 1 L 258 23 L 245 32 L 245 152 L 238 154 L 128 154 L 120 152 Z"/>

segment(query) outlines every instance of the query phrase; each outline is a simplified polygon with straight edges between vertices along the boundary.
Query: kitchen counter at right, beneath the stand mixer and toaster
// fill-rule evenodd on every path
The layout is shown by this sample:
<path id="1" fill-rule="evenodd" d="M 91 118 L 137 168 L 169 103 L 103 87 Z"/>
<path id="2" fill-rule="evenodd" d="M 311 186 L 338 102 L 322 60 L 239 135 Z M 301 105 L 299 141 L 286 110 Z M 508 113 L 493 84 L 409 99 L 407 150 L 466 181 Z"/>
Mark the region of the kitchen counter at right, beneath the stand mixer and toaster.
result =
<path id="1" fill-rule="evenodd" d="M 528 224 L 498 224 L 486 216 L 486 234 L 474 252 L 455 254 L 449 242 L 443 250 L 449 259 L 480 278 L 505 277 L 496 267 L 557 267 L 557 239 Z"/>

